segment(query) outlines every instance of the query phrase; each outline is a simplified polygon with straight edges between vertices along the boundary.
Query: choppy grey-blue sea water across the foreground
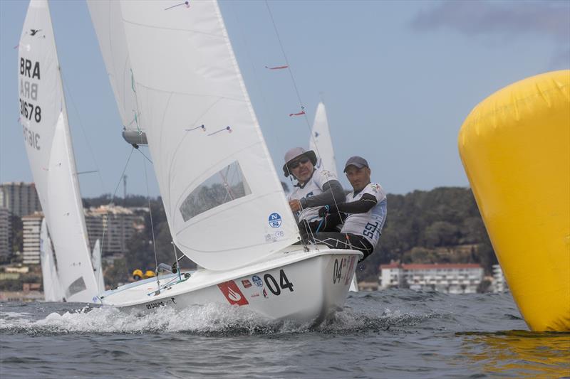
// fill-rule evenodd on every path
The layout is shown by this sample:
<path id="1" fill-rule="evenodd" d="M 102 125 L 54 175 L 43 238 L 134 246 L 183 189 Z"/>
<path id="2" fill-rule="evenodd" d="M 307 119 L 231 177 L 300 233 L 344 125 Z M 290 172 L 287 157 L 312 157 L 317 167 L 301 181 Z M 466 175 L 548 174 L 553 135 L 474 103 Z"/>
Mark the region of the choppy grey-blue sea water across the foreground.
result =
<path id="1" fill-rule="evenodd" d="M 231 306 L 148 316 L 0 304 L 2 378 L 570 376 L 570 333 L 528 331 L 510 294 L 351 294 L 331 323 L 274 324 Z"/>

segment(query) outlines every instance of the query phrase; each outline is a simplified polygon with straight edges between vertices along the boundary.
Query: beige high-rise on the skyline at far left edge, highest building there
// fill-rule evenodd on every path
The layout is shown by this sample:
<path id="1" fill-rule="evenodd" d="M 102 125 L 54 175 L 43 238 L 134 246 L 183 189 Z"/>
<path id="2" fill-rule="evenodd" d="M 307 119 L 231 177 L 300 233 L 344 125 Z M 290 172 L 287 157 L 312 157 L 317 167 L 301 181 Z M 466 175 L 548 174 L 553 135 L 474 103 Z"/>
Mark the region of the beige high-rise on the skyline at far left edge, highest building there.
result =
<path id="1" fill-rule="evenodd" d="M 19 217 L 41 210 L 36 185 L 22 182 L 0 184 L 0 207 L 8 208 Z"/>

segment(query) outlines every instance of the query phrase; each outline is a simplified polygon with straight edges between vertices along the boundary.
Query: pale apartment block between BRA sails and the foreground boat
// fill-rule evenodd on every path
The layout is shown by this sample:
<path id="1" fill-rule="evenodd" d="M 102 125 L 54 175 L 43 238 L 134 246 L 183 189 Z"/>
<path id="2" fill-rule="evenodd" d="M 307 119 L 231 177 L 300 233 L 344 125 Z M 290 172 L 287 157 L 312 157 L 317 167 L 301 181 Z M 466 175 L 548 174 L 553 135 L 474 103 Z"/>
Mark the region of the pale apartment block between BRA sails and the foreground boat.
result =
<path id="1" fill-rule="evenodd" d="M 144 218 L 129 208 L 101 205 L 85 211 L 90 249 L 100 240 L 103 255 L 122 255 Z M 103 237 L 104 235 L 104 237 Z"/>

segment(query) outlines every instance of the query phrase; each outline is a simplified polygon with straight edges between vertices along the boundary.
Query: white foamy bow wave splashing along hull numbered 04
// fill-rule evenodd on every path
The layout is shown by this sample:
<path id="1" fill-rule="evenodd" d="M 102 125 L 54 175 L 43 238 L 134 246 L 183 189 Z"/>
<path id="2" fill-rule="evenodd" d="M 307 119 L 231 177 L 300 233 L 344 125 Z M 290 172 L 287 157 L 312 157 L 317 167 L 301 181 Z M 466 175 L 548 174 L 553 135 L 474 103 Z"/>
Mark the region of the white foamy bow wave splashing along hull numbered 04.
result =
<path id="1" fill-rule="evenodd" d="M 413 315 L 385 309 L 353 311 L 346 308 L 316 329 L 309 324 L 276 322 L 239 306 L 207 304 L 186 309 L 162 307 L 150 312 L 128 312 L 113 307 L 86 306 L 75 311 L 53 312 L 43 319 L 29 313 L 3 312 L 0 331 L 16 333 L 304 333 L 316 330 L 326 333 L 385 326 L 413 324 L 429 315 Z"/>

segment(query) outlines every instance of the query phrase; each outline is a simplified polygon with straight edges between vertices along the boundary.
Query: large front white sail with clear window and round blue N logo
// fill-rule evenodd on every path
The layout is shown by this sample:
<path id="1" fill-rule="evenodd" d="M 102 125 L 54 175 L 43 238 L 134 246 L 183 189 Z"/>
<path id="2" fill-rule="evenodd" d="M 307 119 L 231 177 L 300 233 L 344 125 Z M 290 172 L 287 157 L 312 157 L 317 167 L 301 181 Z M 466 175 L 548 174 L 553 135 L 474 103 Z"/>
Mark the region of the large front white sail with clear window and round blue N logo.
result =
<path id="1" fill-rule="evenodd" d="M 120 33 L 110 25 L 113 18 L 123 21 L 128 53 L 120 55 L 128 60 L 112 60 L 130 62 L 138 122 L 177 247 L 202 267 L 219 270 L 296 242 L 299 230 L 217 2 L 120 1 L 120 14 L 108 14 L 107 25 L 98 18 L 103 11 L 94 10 L 98 4 L 89 6 L 100 46 L 107 44 L 102 28 Z M 114 48 L 102 50 L 115 54 Z M 109 73 L 115 70 L 110 61 L 105 58 Z"/>

